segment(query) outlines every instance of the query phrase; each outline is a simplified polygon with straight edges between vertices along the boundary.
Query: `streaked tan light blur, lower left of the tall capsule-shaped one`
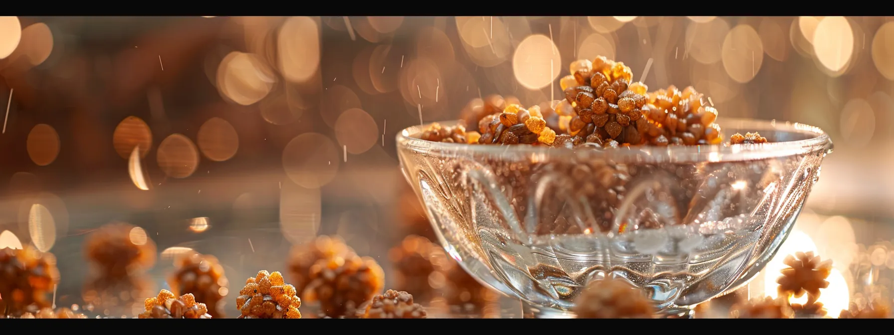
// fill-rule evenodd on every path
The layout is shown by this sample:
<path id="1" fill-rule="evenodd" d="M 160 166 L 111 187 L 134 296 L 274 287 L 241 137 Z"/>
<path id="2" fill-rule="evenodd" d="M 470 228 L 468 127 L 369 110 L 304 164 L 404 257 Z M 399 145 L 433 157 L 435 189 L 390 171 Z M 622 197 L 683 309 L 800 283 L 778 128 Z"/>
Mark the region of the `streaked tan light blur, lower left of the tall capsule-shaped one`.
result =
<path id="1" fill-rule="evenodd" d="M 221 96 L 239 105 L 252 105 L 274 88 L 276 77 L 255 54 L 233 51 L 217 68 L 217 89 Z"/>

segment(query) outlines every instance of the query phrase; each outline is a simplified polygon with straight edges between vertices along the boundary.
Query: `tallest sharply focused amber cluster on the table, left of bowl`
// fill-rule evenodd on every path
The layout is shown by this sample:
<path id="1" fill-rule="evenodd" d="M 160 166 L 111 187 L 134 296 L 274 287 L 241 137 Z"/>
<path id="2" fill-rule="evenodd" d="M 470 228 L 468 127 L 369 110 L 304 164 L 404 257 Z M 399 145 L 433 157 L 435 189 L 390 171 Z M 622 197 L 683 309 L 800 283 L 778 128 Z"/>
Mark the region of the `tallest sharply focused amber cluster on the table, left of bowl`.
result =
<path id="1" fill-rule="evenodd" d="M 245 281 L 236 297 L 241 314 L 237 319 L 300 319 L 301 298 L 295 287 L 286 284 L 280 272 L 257 272 Z"/>

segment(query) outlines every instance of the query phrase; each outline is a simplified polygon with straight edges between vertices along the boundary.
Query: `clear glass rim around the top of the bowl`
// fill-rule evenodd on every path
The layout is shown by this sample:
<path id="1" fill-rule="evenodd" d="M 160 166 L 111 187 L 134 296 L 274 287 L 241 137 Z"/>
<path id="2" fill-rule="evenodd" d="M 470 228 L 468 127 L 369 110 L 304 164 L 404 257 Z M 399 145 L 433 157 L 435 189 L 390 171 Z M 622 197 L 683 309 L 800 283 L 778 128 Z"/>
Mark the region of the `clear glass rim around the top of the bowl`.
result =
<path id="1" fill-rule="evenodd" d="M 438 121 L 442 125 L 454 125 L 458 121 Z M 723 127 L 742 131 L 757 131 L 766 136 L 778 132 L 789 133 L 803 139 L 745 145 L 701 145 L 668 147 L 620 147 L 595 150 L 589 147 L 539 147 L 539 146 L 479 146 L 460 143 L 443 143 L 415 138 L 432 123 L 412 126 L 397 134 L 398 147 L 419 154 L 443 157 L 495 157 L 502 160 L 542 162 L 551 160 L 611 160 L 616 163 L 703 163 L 761 160 L 792 155 L 807 155 L 819 150 L 831 153 L 832 142 L 821 129 L 789 121 L 764 121 L 755 119 L 719 118 L 721 134 L 729 138 Z"/>

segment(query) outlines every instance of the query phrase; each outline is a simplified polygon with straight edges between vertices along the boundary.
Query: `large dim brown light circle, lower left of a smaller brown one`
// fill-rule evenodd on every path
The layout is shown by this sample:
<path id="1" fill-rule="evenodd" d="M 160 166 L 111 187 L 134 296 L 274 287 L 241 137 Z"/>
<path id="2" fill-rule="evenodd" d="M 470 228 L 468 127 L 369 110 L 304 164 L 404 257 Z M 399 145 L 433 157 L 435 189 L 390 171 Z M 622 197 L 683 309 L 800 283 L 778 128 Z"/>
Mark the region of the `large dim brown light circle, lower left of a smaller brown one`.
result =
<path id="1" fill-rule="evenodd" d="M 304 133 L 283 148 L 283 170 L 303 188 L 320 188 L 335 178 L 342 150 L 316 132 Z"/>

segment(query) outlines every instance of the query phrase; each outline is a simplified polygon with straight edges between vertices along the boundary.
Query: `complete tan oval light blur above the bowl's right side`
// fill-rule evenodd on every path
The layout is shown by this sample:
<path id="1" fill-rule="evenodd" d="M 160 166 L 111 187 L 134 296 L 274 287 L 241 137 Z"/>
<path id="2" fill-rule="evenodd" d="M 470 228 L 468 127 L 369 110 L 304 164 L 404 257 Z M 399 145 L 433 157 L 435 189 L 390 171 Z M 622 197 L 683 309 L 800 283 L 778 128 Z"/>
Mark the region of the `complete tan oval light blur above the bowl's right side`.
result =
<path id="1" fill-rule="evenodd" d="M 763 44 L 754 28 L 740 24 L 723 38 L 723 68 L 730 78 L 741 83 L 755 79 L 763 64 Z"/>

